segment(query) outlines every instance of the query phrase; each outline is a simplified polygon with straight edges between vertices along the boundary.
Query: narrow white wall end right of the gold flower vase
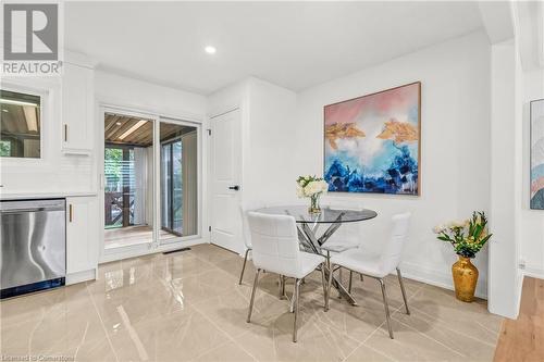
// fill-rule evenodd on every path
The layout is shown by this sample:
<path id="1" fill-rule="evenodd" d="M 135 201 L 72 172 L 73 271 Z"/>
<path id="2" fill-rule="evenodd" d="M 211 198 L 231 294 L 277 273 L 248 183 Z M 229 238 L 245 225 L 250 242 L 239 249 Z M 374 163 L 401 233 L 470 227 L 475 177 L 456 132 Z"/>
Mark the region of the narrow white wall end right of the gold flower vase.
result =
<path id="1" fill-rule="evenodd" d="M 492 46 L 491 80 L 491 229 L 489 310 L 516 319 L 521 273 L 519 220 L 521 200 L 520 63 L 512 40 Z"/>

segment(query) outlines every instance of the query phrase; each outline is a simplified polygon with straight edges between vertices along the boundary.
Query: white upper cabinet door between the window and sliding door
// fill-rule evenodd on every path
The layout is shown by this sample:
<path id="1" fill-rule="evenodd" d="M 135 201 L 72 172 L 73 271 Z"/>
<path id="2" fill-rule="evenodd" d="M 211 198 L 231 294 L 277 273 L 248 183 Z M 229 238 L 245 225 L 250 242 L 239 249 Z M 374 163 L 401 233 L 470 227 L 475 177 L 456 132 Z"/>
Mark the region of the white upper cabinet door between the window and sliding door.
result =
<path id="1" fill-rule="evenodd" d="M 90 154 L 94 138 L 92 70 L 64 63 L 62 78 L 62 151 Z"/>

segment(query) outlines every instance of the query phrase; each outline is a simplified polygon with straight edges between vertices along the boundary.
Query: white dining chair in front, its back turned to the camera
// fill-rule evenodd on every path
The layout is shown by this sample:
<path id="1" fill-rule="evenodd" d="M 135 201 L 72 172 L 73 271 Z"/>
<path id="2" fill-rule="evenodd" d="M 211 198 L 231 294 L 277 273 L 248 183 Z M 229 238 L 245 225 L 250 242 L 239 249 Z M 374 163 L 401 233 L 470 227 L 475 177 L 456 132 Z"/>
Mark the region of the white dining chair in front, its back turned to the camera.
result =
<path id="1" fill-rule="evenodd" d="M 259 272 L 276 273 L 295 278 L 293 303 L 295 322 L 293 341 L 297 341 L 297 319 L 300 298 L 300 282 L 308 274 L 321 266 L 323 294 L 326 292 L 323 255 L 300 251 L 295 217 L 289 215 L 268 215 L 258 212 L 248 212 L 249 229 L 252 242 L 252 259 L 255 267 L 254 288 L 247 314 L 247 323 L 251 321 L 255 292 L 259 282 Z M 326 297 L 324 297 L 326 302 Z"/>

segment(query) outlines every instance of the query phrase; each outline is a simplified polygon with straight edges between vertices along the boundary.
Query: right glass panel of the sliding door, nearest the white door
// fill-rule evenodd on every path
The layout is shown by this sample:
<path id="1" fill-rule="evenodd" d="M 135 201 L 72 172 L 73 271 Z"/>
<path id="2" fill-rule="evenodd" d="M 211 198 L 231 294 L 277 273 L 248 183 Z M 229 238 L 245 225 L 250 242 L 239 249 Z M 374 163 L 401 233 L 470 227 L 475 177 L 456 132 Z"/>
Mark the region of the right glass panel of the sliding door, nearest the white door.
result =
<path id="1" fill-rule="evenodd" d="M 161 120 L 162 242 L 198 234 L 198 129 Z"/>

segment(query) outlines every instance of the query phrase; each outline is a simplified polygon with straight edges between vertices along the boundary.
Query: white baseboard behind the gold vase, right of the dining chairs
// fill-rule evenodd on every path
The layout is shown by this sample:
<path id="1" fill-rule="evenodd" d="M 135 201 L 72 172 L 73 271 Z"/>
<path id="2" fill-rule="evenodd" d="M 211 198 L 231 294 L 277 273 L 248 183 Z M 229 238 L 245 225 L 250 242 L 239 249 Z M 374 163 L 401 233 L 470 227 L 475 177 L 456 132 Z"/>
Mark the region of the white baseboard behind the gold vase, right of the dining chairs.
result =
<path id="1" fill-rule="evenodd" d="M 403 262 L 400 264 L 400 271 L 403 273 L 403 277 L 406 277 L 408 279 L 413 279 L 417 282 L 434 285 L 436 287 L 454 290 L 454 282 L 450 273 L 444 273 L 443 271 L 408 262 Z M 478 298 L 487 299 L 487 280 L 478 282 L 475 296 Z"/>

